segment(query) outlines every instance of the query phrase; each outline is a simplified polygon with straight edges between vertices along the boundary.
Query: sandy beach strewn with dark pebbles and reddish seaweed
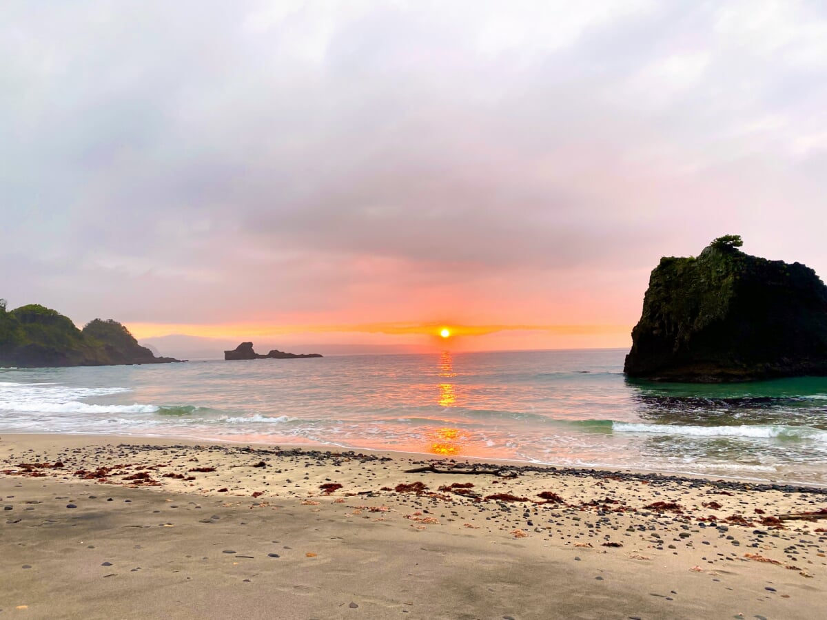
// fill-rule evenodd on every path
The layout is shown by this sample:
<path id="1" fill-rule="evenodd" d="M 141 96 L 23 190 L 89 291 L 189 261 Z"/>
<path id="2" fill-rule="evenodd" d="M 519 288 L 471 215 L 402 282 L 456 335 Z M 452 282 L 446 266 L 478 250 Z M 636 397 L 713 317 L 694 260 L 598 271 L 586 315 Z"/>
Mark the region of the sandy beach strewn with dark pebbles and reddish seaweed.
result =
<path id="1" fill-rule="evenodd" d="M 769 619 L 827 604 L 827 519 L 801 515 L 827 509 L 819 488 L 102 436 L 4 435 L 0 470 L 2 618 Z"/>

